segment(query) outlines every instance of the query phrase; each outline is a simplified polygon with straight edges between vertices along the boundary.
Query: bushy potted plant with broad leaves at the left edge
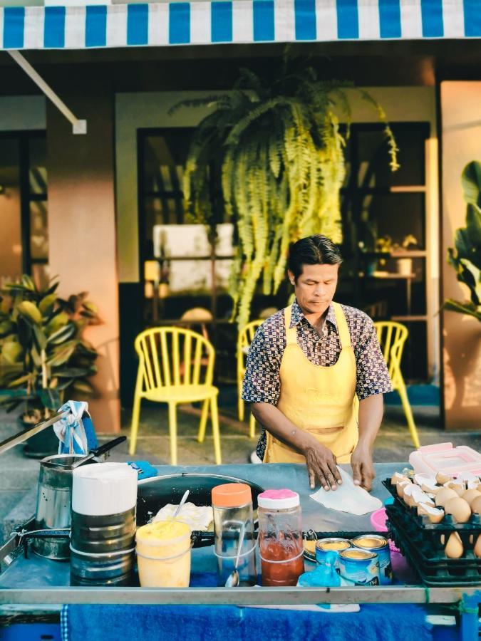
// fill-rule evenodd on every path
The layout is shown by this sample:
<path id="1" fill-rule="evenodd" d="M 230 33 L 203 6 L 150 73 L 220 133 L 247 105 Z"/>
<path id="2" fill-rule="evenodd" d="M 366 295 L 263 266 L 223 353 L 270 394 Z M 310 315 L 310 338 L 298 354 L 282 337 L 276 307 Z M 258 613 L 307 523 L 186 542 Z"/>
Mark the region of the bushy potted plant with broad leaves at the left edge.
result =
<path id="1" fill-rule="evenodd" d="M 57 288 L 58 282 L 37 288 L 24 275 L 0 291 L 0 405 L 11 412 L 26 403 L 24 428 L 50 417 L 75 393 L 93 393 L 88 377 L 97 371 L 98 354 L 83 330 L 100 323 L 97 309 L 86 292 L 63 300 Z M 26 454 L 53 453 L 58 442 L 45 439 L 42 432 L 29 439 Z"/>

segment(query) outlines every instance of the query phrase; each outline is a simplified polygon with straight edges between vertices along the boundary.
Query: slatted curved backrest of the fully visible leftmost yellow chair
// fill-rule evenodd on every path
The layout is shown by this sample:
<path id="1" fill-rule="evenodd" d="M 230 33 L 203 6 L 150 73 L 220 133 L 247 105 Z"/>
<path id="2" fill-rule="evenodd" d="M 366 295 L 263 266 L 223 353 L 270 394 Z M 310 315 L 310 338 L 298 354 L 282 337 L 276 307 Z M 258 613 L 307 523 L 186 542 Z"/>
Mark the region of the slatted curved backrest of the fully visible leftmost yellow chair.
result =
<path id="1" fill-rule="evenodd" d="M 215 351 L 212 343 L 192 330 L 156 327 L 135 338 L 143 391 L 180 385 L 212 385 Z M 207 359 L 207 367 L 202 360 Z"/>

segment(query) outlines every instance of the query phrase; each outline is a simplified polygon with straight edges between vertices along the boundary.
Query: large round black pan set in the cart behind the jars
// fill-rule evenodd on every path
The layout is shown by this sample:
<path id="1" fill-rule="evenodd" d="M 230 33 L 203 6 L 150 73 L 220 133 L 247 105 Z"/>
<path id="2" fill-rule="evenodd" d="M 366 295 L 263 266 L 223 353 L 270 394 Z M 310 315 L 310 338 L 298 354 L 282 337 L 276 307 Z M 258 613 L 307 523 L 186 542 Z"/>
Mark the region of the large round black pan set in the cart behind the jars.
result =
<path id="1" fill-rule="evenodd" d="M 167 503 L 179 504 L 187 489 L 190 490 L 189 498 L 187 499 L 190 503 L 205 506 L 212 505 L 210 494 L 212 488 L 224 483 L 245 483 L 249 485 L 252 491 L 252 507 L 257 510 L 257 496 L 264 491 L 264 488 L 257 485 L 257 483 L 239 479 L 236 476 L 184 472 L 168 476 L 155 476 L 152 479 L 145 479 L 139 482 L 137 526 L 140 527 L 148 523 L 150 518 L 157 514 L 160 508 L 167 505 Z M 207 538 L 211 537 L 213 537 L 212 533 Z"/>

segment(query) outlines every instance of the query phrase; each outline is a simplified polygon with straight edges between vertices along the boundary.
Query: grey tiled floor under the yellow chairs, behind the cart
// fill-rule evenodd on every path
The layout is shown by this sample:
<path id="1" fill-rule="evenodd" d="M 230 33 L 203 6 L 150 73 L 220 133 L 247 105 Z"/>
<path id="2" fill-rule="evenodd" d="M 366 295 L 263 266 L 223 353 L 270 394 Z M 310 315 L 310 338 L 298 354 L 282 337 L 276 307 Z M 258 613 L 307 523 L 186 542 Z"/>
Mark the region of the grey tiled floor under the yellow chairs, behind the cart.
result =
<path id="1" fill-rule="evenodd" d="M 470 445 L 481 449 L 481 434 L 477 432 L 445 432 L 440 429 L 438 409 L 435 407 L 414 407 L 415 420 L 421 444 L 451 441 L 454 444 Z M 95 422 L 95 417 L 94 422 Z M 111 461 L 148 460 L 153 464 L 170 462 L 167 410 L 162 405 L 146 404 L 140 417 L 138 447 L 134 457 L 128 454 L 128 442 L 111 452 Z M 214 449 L 210 426 L 207 427 L 205 442 L 197 442 L 200 410 L 196 407 L 182 407 L 178 414 L 178 462 L 182 465 L 214 464 Z M 130 433 L 130 410 L 122 415 L 122 433 Z M 220 407 L 220 428 L 222 434 L 222 462 L 245 463 L 255 448 L 256 441 L 247 436 L 247 423 L 239 423 L 236 408 L 232 402 Z M 0 414 L 0 440 L 19 430 L 15 417 Z M 100 442 L 111 439 L 111 435 L 99 435 Z M 413 444 L 400 407 L 386 407 L 381 432 L 376 441 L 374 459 L 376 462 L 407 461 Z M 38 478 L 38 461 L 24 457 L 22 446 L 16 446 L 1 455 L 0 461 L 0 540 L 2 534 L 22 518 L 33 514 Z"/>

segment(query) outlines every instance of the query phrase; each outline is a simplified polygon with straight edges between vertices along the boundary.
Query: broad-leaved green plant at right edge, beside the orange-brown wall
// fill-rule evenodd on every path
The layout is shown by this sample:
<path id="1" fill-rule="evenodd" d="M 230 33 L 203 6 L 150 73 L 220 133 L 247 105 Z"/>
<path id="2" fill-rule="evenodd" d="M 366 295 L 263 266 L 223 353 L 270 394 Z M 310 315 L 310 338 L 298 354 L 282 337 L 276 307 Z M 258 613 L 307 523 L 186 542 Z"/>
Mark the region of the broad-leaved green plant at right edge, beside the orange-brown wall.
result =
<path id="1" fill-rule="evenodd" d="M 448 261 L 457 280 L 467 286 L 469 301 L 449 298 L 444 307 L 481 321 L 481 164 L 473 160 L 462 172 L 462 189 L 467 204 L 466 226 L 456 230 L 455 247 L 448 249 Z"/>

